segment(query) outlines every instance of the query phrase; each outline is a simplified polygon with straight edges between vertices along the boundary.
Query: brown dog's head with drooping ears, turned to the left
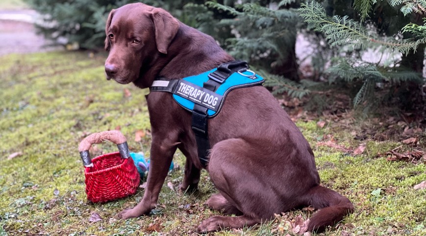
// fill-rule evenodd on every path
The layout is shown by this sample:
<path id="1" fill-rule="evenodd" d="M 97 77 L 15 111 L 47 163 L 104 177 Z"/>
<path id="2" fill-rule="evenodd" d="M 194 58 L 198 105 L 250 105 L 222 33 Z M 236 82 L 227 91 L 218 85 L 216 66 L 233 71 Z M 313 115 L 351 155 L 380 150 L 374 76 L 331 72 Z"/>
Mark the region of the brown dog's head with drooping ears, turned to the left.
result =
<path id="1" fill-rule="evenodd" d="M 112 10 L 105 27 L 106 78 L 121 84 L 138 79 L 154 58 L 167 54 L 178 29 L 178 21 L 161 8 L 133 3 Z"/>

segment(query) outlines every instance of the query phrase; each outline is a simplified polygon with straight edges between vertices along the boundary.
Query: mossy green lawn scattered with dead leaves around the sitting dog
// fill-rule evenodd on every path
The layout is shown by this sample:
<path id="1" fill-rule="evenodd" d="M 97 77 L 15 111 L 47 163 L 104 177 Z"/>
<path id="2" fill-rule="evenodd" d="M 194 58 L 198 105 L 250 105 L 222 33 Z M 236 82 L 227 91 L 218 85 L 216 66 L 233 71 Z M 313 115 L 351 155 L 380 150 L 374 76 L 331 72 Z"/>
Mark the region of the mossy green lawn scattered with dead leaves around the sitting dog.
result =
<path id="1" fill-rule="evenodd" d="M 218 214 L 203 206 L 216 192 L 205 171 L 193 194 L 179 194 L 167 186 L 170 182 L 177 187 L 182 180 L 184 157 L 179 152 L 175 171 L 167 177 L 158 207 L 150 215 L 117 218 L 118 212 L 141 200 L 143 189 L 106 204 L 86 200 L 77 150 L 83 137 L 120 128 L 131 151 L 150 154 L 144 96 L 149 91 L 105 80 L 104 59 L 77 52 L 0 57 L 0 236 L 195 235 L 201 220 Z M 360 141 L 351 135 L 359 128 L 357 123 L 341 128 L 329 120 L 320 128 L 317 121 L 299 120 L 297 125 L 315 152 L 322 183 L 348 196 L 356 207 L 337 228 L 321 235 L 425 236 L 426 190 L 413 186 L 426 180 L 426 165 L 377 157 L 378 152 L 400 145 L 402 150 L 412 147 L 370 140 L 361 155 L 347 154 L 318 143 L 332 135 L 338 145 L 357 147 Z M 135 142 L 139 130 L 146 135 Z M 424 141 L 423 133 L 419 142 Z M 94 152 L 113 152 L 114 146 L 98 144 Z M 17 152 L 22 153 L 8 158 Z M 101 220 L 89 221 L 92 213 Z M 211 235 L 295 235 L 292 221 L 311 214 L 309 209 L 295 210 L 252 229 Z"/>

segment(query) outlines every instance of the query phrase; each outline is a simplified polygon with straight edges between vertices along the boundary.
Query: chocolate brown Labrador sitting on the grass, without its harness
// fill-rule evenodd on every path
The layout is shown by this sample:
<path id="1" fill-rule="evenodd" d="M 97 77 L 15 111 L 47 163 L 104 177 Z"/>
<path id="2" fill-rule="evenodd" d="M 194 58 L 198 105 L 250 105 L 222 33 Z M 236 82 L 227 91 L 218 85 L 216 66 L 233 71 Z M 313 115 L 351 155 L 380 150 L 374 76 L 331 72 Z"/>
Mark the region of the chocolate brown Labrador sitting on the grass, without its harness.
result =
<path id="1" fill-rule="evenodd" d="M 112 10 L 106 23 L 107 79 L 149 88 L 157 77 L 183 78 L 233 61 L 215 40 L 170 13 L 143 3 Z M 172 94 L 147 96 L 152 144 L 147 187 L 141 202 L 119 217 L 148 214 L 178 148 L 186 157 L 182 190 L 197 189 L 198 158 L 191 113 Z M 220 193 L 206 204 L 224 214 L 205 219 L 198 232 L 252 226 L 302 206 L 321 209 L 308 230 L 324 229 L 353 211 L 351 201 L 320 186 L 314 154 L 276 99 L 262 86 L 229 92 L 221 113 L 208 119 L 212 147 L 206 170 Z"/>

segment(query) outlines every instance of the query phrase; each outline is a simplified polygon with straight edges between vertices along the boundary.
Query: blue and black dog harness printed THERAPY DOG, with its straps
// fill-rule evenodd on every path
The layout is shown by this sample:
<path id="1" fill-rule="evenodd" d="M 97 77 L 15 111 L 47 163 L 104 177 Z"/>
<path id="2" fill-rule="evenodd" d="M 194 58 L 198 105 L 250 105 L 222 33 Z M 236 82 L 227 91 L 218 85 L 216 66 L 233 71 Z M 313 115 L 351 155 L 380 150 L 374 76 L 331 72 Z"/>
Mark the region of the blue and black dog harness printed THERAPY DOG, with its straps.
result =
<path id="1" fill-rule="evenodd" d="M 159 78 L 150 87 L 151 92 L 172 93 L 175 101 L 192 113 L 192 130 L 197 141 L 198 156 L 204 167 L 210 149 L 207 118 L 219 114 L 229 91 L 261 85 L 265 81 L 248 68 L 249 65 L 244 61 L 228 62 L 211 71 L 182 79 Z"/>

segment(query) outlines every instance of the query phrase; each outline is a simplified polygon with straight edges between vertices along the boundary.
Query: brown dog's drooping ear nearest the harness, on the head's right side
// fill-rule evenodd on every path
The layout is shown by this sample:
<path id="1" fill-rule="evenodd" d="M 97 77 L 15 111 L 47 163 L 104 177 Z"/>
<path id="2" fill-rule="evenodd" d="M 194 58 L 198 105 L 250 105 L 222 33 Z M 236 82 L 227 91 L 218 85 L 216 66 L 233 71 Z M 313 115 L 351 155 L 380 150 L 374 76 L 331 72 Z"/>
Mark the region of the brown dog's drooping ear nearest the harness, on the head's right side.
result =
<path id="1" fill-rule="evenodd" d="M 170 13 L 161 8 L 152 9 L 150 16 L 154 23 L 157 50 L 167 54 L 167 48 L 169 48 L 179 29 L 179 22 Z"/>

